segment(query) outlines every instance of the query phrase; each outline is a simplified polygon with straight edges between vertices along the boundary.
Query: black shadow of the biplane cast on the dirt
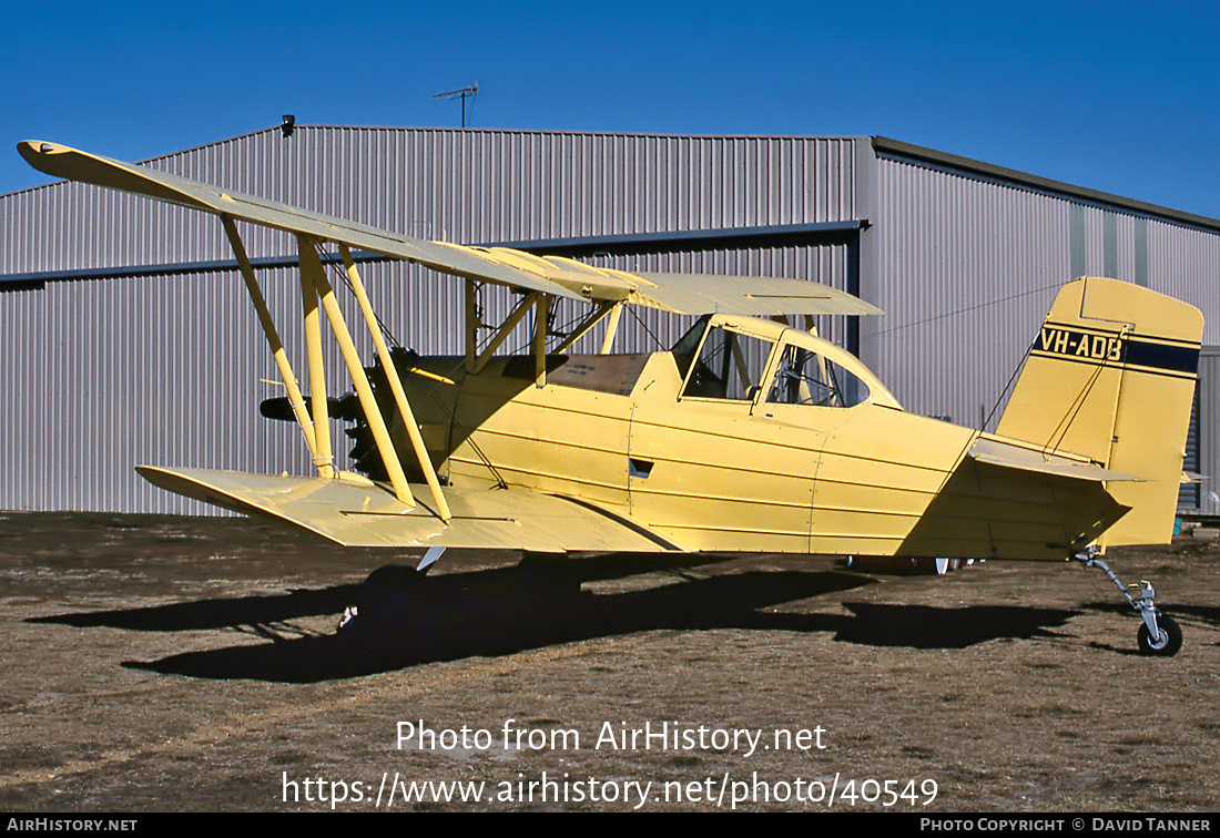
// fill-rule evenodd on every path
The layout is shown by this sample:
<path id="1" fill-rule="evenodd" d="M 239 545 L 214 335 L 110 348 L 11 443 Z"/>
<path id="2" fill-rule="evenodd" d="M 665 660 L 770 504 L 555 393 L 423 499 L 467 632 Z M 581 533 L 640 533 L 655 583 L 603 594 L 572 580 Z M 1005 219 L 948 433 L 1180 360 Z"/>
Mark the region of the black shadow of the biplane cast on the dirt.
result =
<path id="1" fill-rule="evenodd" d="M 867 576 L 838 571 L 687 576 L 675 584 L 614 594 L 581 592 L 580 583 L 587 578 L 587 573 L 556 575 L 525 565 L 443 575 L 423 579 L 410 590 L 410 609 L 401 621 L 383 625 L 361 617 L 351 628 L 321 636 L 300 637 L 298 632 L 285 637 L 283 623 L 342 611 L 353 601 L 357 586 L 70 614 L 34 622 L 143 631 L 243 627 L 272 642 L 127 661 L 123 666 L 196 678 L 311 683 L 665 628 L 830 632 L 837 642 L 863 645 L 961 649 L 997 638 L 1049 636 L 1047 629 L 1077 614 L 1016 606 L 938 609 L 869 603 L 844 603 L 850 616 L 762 610 L 874 583 Z"/>

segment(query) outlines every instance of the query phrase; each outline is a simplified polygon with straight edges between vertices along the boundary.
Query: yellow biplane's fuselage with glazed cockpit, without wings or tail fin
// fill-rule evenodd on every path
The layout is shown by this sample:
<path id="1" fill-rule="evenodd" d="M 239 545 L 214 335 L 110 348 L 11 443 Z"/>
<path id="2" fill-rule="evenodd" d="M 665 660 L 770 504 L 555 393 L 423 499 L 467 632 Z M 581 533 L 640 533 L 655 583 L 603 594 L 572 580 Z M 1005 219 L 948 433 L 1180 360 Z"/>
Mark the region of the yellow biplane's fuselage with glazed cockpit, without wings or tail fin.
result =
<path id="1" fill-rule="evenodd" d="M 808 332 L 712 317 L 687 343 L 550 356 L 542 387 L 526 356 L 420 359 L 453 383 L 405 383 L 450 485 L 572 498 L 691 550 L 1064 559 L 1100 532 L 1100 484 L 974 461 L 978 431 L 905 412 Z"/>

